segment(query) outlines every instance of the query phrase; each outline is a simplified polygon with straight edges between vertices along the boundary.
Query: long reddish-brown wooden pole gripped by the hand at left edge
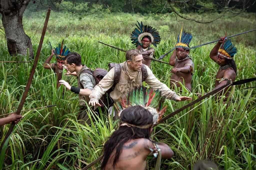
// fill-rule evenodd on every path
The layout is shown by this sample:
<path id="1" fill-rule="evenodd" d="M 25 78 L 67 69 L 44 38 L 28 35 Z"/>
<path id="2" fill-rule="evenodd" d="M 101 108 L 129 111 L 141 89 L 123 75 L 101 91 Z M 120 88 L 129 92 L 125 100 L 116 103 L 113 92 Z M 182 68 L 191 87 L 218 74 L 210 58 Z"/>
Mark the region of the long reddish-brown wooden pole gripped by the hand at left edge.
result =
<path id="1" fill-rule="evenodd" d="M 47 28 L 47 24 L 48 24 L 48 20 L 49 20 L 49 16 L 50 16 L 50 12 L 51 12 L 51 8 L 49 7 L 48 10 L 47 10 L 47 14 L 46 14 L 46 19 L 45 19 L 45 23 L 44 23 L 44 28 L 42 30 L 42 35 L 41 35 L 41 39 L 40 39 L 40 42 L 39 42 L 39 45 L 38 45 L 38 48 L 37 48 L 37 52 L 36 52 L 36 57 L 34 59 L 34 64 L 32 66 L 32 69 L 30 71 L 30 75 L 29 75 L 29 78 L 28 78 L 28 82 L 27 82 L 27 85 L 26 85 L 26 88 L 25 88 L 25 91 L 22 95 L 22 99 L 20 100 L 20 103 L 19 103 L 19 106 L 17 108 L 17 111 L 16 111 L 16 114 L 19 115 L 20 114 L 20 111 L 25 103 L 25 100 L 26 100 L 26 97 L 27 97 L 27 94 L 28 94 L 28 90 L 30 88 L 30 85 L 31 85 L 31 82 L 32 82 L 32 79 L 33 79 L 33 76 L 35 74 L 35 70 L 36 70 L 36 65 L 37 65 L 37 62 L 38 62 L 38 59 L 39 59 L 39 55 L 40 55 L 40 52 L 41 52 L 41 48 L 42 48 L 42 44 L 43 44 L 43 41 L 44 41 L 44 37 L 45 37 L 45 32 L 46 32 L 46 28 Z M 12 122 L 12 124 L 10 125 L 9 127 L 9 130 L 8 132 L 6 133 L 5 135 L 5 138 L 3 140 L 3 142 L 1 143 L 1 147 L 0 147 L 0 151 L 2 151 L 2 148 L 3 148 L 3 145 L 8 143 L 8 141 L 6 141 L 6 139 L 9 137 L 9 135 L 12 133 L 12 130 L 15 126 L 15 123 Z"/>

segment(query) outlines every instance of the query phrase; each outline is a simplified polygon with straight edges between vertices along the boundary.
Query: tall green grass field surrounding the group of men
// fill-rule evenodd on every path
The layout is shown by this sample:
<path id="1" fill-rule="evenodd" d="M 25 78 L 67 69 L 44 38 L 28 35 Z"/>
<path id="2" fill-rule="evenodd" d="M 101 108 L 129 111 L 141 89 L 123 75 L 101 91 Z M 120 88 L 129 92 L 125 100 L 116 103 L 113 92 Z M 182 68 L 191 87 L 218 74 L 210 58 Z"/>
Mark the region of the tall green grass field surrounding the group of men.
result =
<path id="1" fill-rule="evenodd" d="M 220 14 L 186 14 L 197 19 L 212 19 Z M 26 11 L 23 23 L 25 32 L 31 38 L 36 53 L 45 11 L 31 13 Z M 52 71 L 42 67 L 50 55 L 50 41 L 53 46 L 64 39 L 71 51 L 82 56 L 82 63 L 88 67 L 107 69 L 109 62 L 120 63 L 125 54 L 113 48 L 99 44 L 102 41 L 124 49 L 134 48 L 130 33 L 136 20 L 151 25 L 162 37 L 156 48 L 155 57 L 167 52 L 176 42 L 181 26 L 192 33 L 190 46 L 217 40 L 227 31 L 233 35 L 255 29 L 255 13 L 242 13 L 239 16 L 224 16 L 209 24 L 176 20 L 173 14 L 140 15 L 124 13 L 98 13 L 90 16 L 76 16 L 64 12 L 51 11 L 47 32 L 44 39 L 39 63 L 24 104 L 24 110 L 40 106 L 57 104 L 37 111 L 23 112 L 23 119 L 13 131 L 5 149 L 1 151 L 0 169 L 79 169 L 89 164 L 102 153 L 103 142 L 116 129 L 117 123 L 102 113 L 91 126 L 76 122 L 79 111 L 78 96 L 66 91 L 63 86 L 56 90 L 56 78 Z M 2 30 L 1 30 L 2 31 Z M 2 31 L 3 32 L 3 31 Z M 5 36 L 0 34 L 1 60 L 28 60 L 26 56 L 11 57 L 8 54 Z M 255 32 L 231 38 L 238 53 L 234 56 L 238 74 L 236 80 L 256 77 Z M 191 96 L 206 93 L 214 88 L 218 65 L 209 53 L 214 44 L 195 50 L 190 55 L 195 64 L 192 93 L 184 91 L 180 95 Z M 168 61 L 169 56 L 164 59 Z M 0 116 L 16 111 L 26 86 L 32 64 L 1 64 L 0 79 Z M 170 70 L 166 64 L 152 62 L 151 69 L 156 77 L 169 86 Z M 77 86 L 75 77 L 64 76 L 65 80 Z M 255 82 L 236 86 L 231 104 L 207 98 L 176 116 L 158 125 L 152 139 L 166 142 L 175 156 L 163 160 L 168 169 L 192 169 L 198 160 L 213 160 L 222 169 L 255 169 Z M 62 90 L 65 90 L 62 98 Z M 166 114 L 182 107 L 188 102 L 166 100 Z M 9 125 L 0 127 L 0 142 Z M 148 162 L 148 168 L 154 167 L 155 161 Z M 98 169 L 96 164 L 92 169 Z"/>

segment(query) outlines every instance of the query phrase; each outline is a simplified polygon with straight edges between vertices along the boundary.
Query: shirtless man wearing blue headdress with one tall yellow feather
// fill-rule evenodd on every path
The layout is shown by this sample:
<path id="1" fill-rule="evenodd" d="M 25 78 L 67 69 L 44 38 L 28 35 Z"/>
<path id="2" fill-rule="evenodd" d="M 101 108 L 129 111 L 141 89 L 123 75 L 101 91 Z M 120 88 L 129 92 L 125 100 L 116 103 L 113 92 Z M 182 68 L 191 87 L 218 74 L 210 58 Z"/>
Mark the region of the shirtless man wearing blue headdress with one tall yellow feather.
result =
<path id="1" fill-rule="evenodd" d="M 180 37 L 180 34 L 182 36 Z M 194 71 L 194 63 L 192 59 L 188 56 L 189 48 L 188 44 L 192 39 L 192 35 L 189 33 L 180 31 L 178 35 L 178 41 L 176 49 L 169 59 L 169 64 L 174 66 L 171 70 L 172 76 L 170 79 L 170 86 L 174 89 L 175 84 L 179 90 L 181 90 L 181 85 L 179 82 L 185 85 L 185 87 L 191 92 L 191 80 Z"/>

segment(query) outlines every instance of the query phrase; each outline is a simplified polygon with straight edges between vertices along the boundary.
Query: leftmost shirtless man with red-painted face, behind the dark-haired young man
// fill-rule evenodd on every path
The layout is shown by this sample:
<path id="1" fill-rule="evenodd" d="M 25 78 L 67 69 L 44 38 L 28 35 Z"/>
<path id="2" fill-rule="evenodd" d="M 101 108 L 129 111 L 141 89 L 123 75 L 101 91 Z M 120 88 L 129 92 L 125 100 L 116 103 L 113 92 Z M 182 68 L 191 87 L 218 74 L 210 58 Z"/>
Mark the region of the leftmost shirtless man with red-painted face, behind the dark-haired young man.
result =
<path id="1" fill-rule="evenodd" d="M 44 65 L 43 65 L 44 68 L 52 69 L 54 73 L 57 74 L 57 88 L 59 88 L 60 86 L 59 80 L 62 79 L 62 71 L 63 71 L 64 62 L 65 62 L 65 57 L 69 53 L 70 51 L 68 48 L 66 49 L 66 45 L 63 48 L 63 40 L 62 40 L 61 44 L 59 44 L 58 47 L 56 47 L 55 49 L 54 48 L 51 49 L 51 55 L 44 62 Z M 50 63 L 54 55 L 57 55 L 56 56 L 57 62 Z"/>

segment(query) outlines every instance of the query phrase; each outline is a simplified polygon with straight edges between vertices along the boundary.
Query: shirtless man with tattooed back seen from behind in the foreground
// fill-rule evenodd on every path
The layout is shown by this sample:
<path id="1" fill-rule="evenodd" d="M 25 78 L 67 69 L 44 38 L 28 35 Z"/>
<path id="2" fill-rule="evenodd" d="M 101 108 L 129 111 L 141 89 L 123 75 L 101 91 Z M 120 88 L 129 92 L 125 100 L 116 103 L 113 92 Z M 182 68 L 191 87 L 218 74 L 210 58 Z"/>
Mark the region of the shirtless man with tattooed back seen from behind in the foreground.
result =
<path id="1" fill-rule="evenodd" d="M 115 104 L 121 125 L 104 143 L 101 170 L 145 170 L 147 159 L 152 158 L 157 159 L 155 166 L 160 169 L 161 157 L 170 159 L 174 155 L 167 144 L 150 139 L 152 127 L 165 110 L 165 107 L 159 107 L 164 103 L 161 92 L 145 87 L 135 90 Z M 133 97 L 127 98 L 131 94 Z M 128 105 L 123 104 L 126 101 Z"/>

